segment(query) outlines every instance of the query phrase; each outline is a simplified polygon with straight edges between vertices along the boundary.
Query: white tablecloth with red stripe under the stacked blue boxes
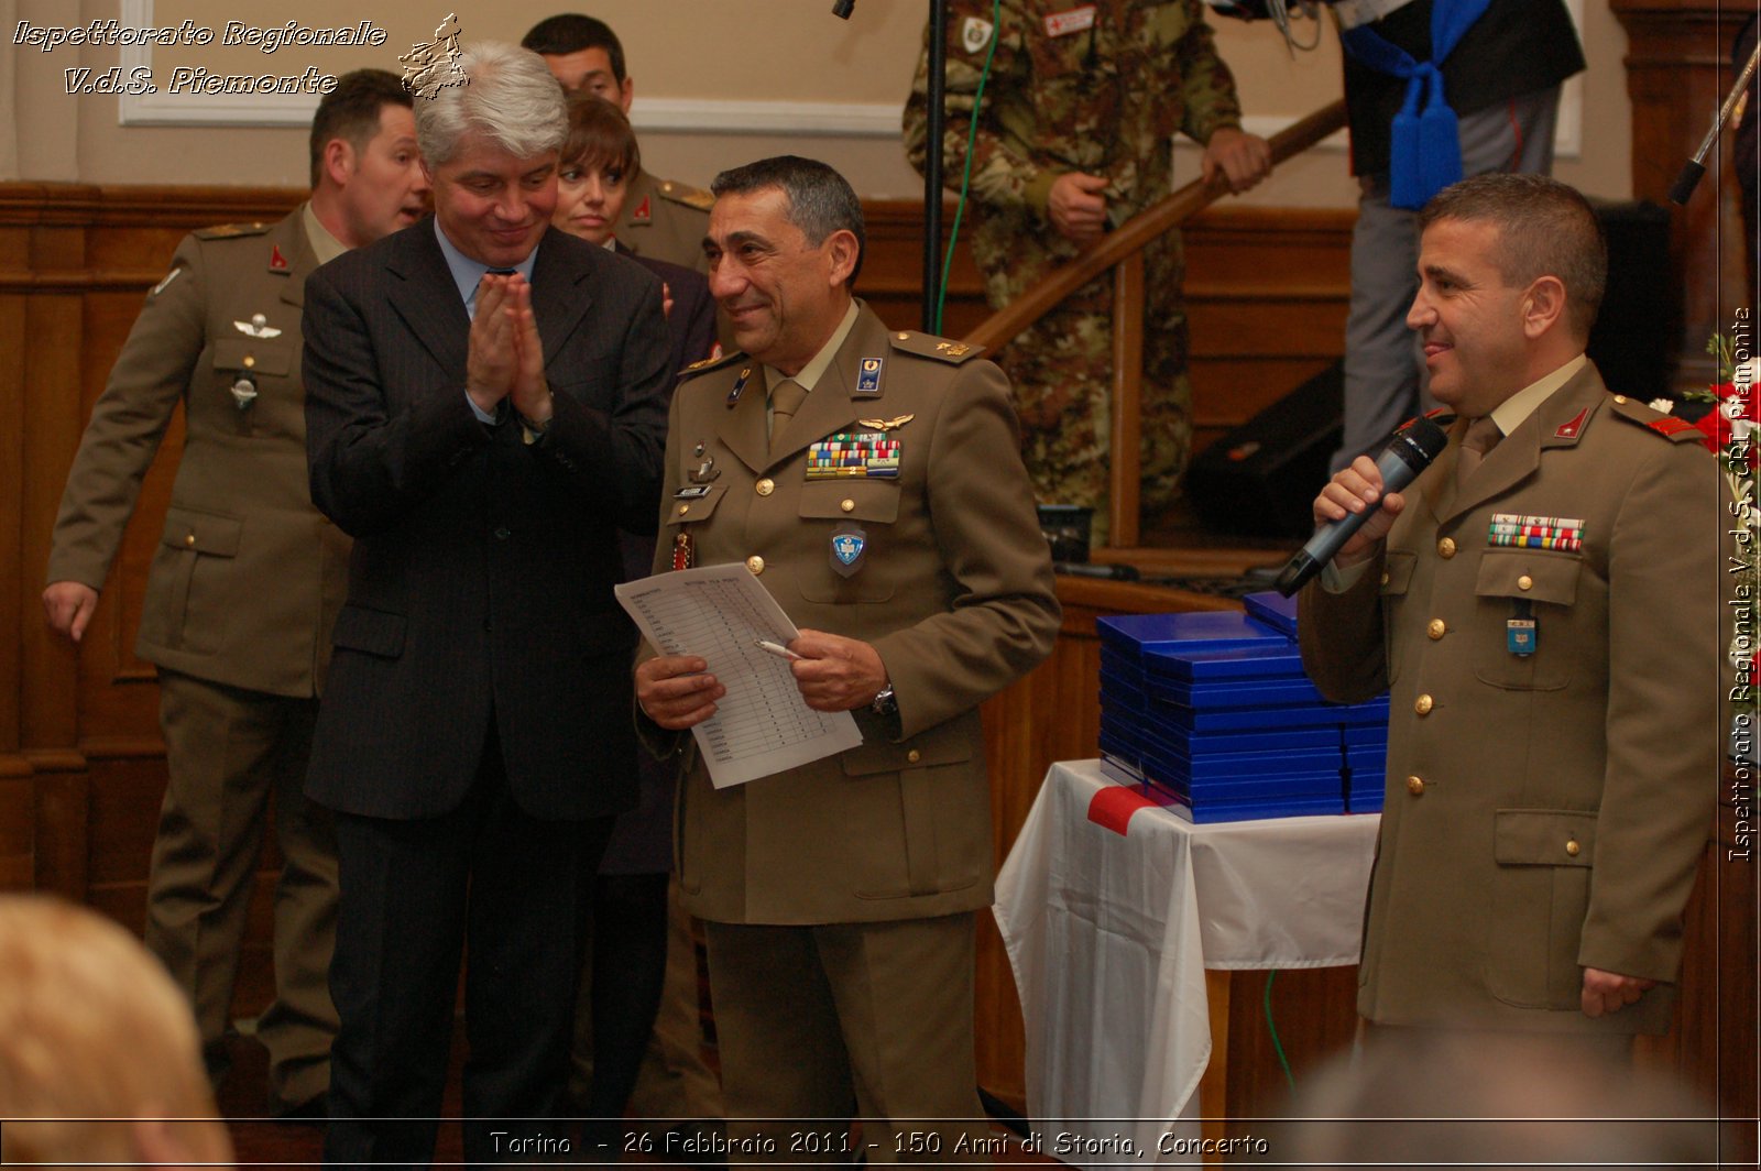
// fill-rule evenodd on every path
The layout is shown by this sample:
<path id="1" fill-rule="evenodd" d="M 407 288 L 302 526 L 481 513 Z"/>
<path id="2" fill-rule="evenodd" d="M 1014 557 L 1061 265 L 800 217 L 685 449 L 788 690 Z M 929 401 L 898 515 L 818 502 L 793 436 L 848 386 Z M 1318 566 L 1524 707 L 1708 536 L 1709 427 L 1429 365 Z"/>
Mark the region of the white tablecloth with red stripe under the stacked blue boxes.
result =
<path id="1" fill-rule="evenodd" d="M 1085 1166 L 1192 1159 L 1164 1136 L 1197 1136 L 1194 1090 L 1212 1055 L 1205 968 L 1356 963 L 1379 824 L 1372 814 L 1196 826 L 1097 761 L 1053 764 L 993 909 L 1046 1153 Z M 1065 1152 L 1051 1148 L 1058 1134 L 1076 1136 Z"/>

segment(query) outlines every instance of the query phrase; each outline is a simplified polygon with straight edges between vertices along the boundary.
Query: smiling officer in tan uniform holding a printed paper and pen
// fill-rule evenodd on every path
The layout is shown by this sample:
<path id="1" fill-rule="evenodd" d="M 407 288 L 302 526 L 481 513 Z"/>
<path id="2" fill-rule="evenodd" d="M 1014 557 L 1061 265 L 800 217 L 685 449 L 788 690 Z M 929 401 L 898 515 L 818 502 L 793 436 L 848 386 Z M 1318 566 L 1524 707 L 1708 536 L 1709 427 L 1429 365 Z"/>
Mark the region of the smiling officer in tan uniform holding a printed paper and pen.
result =
<path id="1" fill-rule="evenodd" d="M 851 296 L 863 218 L 836 171 L 768 158 L 715 192 L 710 287 L 747 352 L 673 398 L 657 569 L 743 562 L 801 627 L 801 697 L 863 734 L 715 789 L 692 740 L 662 729 L 713 715 L 722 685 L 683 655 L 636 671 L 650 743 L 687 750 L 678 873 L 706 921 L 729 1157 L 836 1159 L 836 1143 L 791 1146 L 801 1127 L 780 1120 L 859 1111 L 868 1160 L 960 1159 L 956 1139 L 983 1132 L 979 704 L 1058 629 L 1009 386 Z M 743 1145 L 757 1138 L 775 1148 Z"/>

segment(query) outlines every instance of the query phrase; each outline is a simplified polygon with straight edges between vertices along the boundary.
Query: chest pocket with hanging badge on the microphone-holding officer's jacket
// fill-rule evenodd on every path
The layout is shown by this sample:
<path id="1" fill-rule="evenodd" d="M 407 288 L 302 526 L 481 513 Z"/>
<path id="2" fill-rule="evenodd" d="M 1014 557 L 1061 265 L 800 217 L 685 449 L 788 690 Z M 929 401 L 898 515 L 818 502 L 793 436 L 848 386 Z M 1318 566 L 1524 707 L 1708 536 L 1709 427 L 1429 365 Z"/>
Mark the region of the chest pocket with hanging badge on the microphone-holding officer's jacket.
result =
<path id="1" fill-rule="evenodd" d="M 1507 690 L 1558 690 L 1571 680 L 1560 648 L 1578 604 L 1583 560 L 1548 549 L 1486 549 L 1474 579 L 1474 676 Z"/>

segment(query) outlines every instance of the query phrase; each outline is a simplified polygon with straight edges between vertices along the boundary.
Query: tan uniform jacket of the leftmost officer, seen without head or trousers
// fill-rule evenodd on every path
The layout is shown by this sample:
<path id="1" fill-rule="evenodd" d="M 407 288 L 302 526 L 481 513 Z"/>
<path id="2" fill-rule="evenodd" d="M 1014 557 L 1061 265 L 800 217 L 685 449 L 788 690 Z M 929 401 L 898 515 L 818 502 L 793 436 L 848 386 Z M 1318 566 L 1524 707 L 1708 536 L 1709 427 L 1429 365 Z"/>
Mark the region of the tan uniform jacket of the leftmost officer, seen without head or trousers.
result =
<path id="1" fill-rule="evenodd" d="M 349 572 L 349 539 L 306 488 L 299 312 L 313 268 L 299 210 L 183 238 L 92 410 L 48 572 L 104 586 L 181 401 L 183 453 L 136 653 L 275 696 L 319 692 Z M 239 379 L 257 391 L 248 409 L 232 394 Z"/>

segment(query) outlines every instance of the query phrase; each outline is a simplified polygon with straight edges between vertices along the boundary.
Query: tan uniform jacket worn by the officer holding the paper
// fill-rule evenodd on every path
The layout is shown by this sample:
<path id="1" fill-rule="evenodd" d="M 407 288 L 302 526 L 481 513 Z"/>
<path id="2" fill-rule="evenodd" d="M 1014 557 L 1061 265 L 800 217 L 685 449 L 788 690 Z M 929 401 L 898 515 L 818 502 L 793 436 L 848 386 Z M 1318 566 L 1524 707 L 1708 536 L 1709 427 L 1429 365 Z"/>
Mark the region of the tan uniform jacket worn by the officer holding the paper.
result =
<path id="1" fill-rule="evenodd" d="M 1046 541 L 1016 447 L 1007 382 L 974 350 L 888 333 L 866 308 L 766 454 L 764 372 L 736 354 L 673 398 L 660 551 L 689 532 L 699 565 L 763 558 L 799 627 L 872 643 L 903 738 L 858 713 L 865 743 L 733 789 L 692 759 L 680 791 L 687 910 L 720 923 L 854 923 L 988 907 L 991 821 L 979 703 L 1032 669 L 1058 629 Z M 859 389 L 879 363 L 879 393 Z M 738 403 L 727 396 L 750 372 Z M 896 421 L 898 479 L 808 482 L 808 447 Z M 703 444 L 704 454 L 696 454 Z M 713 458 L 706 497 L 674 495 Z M 859 528 L 858 569 L 831 539 Z M 652 734 L 655 729 L 648 725 Z M 685 741 L 689 743 L 689 736 Z"/>

